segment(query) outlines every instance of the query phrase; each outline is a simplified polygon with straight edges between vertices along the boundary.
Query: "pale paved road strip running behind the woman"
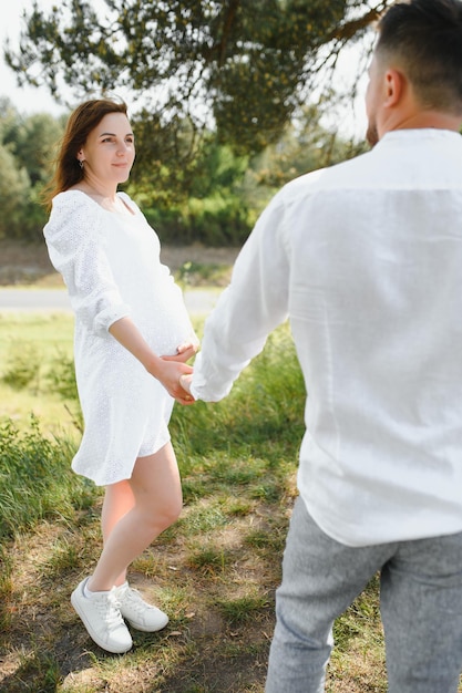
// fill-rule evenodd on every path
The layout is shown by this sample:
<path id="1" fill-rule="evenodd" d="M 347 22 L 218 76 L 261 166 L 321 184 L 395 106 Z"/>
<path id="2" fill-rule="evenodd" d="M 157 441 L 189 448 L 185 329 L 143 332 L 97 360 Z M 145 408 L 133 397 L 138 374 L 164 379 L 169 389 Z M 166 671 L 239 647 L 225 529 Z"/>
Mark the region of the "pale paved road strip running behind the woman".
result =
<path id="1" fill-rule="evenodd" d="M 215 306 L 220 290 L 185 291 L 186 308 L 192 316 L 204 316 Z M 61 289 L 0 289 L 0 312 L 69 312 L 68 293 Z"/>

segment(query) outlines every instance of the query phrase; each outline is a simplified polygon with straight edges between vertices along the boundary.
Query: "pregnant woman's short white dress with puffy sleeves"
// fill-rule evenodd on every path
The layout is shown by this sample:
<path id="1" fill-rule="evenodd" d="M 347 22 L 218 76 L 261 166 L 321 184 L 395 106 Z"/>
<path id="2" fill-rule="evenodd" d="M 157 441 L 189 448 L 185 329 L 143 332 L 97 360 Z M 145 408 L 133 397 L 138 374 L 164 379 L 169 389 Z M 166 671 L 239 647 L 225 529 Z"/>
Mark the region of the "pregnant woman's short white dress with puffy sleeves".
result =
<path id="1" fill-rule="evenodd" d="M 179 287 L 160 260 L 144 215 L 109 211 L 80 190 L 60 193 L 43 229 L 75 313 L 74 361 L 84 432 L 72 468 L 97 485 L 131 477 L 135 459 L 170 439 L 173 399 L 109 332 L 130 316 L 157 355 L 196 340 Z"/>

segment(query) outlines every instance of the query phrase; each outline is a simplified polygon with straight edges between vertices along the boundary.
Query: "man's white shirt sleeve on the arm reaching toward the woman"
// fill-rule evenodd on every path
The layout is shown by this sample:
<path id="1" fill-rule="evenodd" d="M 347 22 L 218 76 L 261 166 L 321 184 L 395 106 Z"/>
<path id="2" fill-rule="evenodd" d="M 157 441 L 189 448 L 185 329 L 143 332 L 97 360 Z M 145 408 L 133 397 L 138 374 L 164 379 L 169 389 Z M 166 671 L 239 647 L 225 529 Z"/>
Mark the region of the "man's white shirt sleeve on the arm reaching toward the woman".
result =
<path id="1" fill-rule="evenodd" d="M 288 317 L 289 267 L 285 208 L 278 194 L 265 209 L 233 269 L 232 281 L 205 322 L 192 394 L 217 402 Z"/>

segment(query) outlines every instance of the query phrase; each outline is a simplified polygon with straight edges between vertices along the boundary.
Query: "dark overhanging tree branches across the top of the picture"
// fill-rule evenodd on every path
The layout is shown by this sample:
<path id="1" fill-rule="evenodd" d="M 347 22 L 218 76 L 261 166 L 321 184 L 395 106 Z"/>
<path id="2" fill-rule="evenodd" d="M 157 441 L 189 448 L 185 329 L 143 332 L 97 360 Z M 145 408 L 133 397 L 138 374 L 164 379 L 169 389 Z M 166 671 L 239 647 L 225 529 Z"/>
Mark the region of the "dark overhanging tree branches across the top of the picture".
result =
<path id="1" fill-rule="evenodd" d="M 390 0 L 63 0 L 23 14 L 6 60 L 19 82 L 74 101 L 131 94 L 140 163 L 188 189 L 204 133 L 236 153 L 276 142 L 322 64 Z M 167 164 L 167 168 L 165 168 Z"/>

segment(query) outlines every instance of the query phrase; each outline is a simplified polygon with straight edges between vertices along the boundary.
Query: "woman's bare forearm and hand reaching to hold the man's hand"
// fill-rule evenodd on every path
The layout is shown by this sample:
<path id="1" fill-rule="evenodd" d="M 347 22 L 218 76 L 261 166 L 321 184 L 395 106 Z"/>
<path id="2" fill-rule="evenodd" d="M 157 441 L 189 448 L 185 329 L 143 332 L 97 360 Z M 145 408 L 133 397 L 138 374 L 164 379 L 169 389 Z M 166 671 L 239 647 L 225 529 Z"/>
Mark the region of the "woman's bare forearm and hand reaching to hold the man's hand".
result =
<path id="1" fill-rule="evenodd" d="M 156 377 L 179 404 L 192 404 L 193 397 L 179 384 L 179 377 L 184 374 L 192 373 L 191 365 L 184 363 L 185 360 L 194 354 L 193 345 L 182 345 L 183 351 L 174 359 L 157 356 L 147 344 L 140 330 L 133 323 L 131 318 L 121 318 L 112 323 L 109 328 L 110 333 L 132 353 L 146 369 L 151 375 Z M 189 353 L 191 352 L 191 353 Z"/>

